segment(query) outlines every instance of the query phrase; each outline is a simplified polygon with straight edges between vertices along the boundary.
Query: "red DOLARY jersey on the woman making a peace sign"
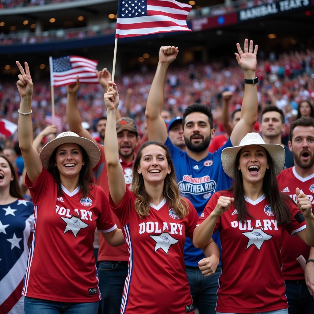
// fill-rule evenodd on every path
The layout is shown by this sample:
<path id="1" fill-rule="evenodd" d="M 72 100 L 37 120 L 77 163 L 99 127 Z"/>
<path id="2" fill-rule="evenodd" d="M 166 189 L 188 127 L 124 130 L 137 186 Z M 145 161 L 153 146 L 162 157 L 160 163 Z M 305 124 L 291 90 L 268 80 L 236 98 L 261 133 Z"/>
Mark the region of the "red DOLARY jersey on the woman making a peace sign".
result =
<path id="1" fill-rule="evenodd" d="M 34 203 L 35 231 L 24 278 L 24 296 L 59 302 L 101 299 L 94 257 L 94 233 L 116 229 L 105 192 L 99 186 L 82 197 L 69 192 L 43 167 L 26 186 Z"/>

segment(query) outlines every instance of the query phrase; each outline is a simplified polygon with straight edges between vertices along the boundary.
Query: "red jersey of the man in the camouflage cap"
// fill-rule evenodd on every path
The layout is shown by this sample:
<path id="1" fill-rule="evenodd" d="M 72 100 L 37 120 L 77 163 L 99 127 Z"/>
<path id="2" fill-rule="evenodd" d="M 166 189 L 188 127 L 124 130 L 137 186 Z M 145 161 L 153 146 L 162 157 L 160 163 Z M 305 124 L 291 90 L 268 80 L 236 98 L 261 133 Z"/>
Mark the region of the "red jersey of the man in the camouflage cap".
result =
<path id="1" fill-rule="evenodd" d="M 133 178 L 133 168 L 132 168 L 133 161 L 130 163 L 127 163 L 123 161 L 121 158 L 119 159 L 119 161 L 124 171 L 125 184 L 129 188 L 131 186 L 132 178 Z M 107 171 L 106 171 L 106 175 L 107 175 Z M 107 178 L 107 185 L 108 185 L 108 178 Z M 107 193 L 108 193 L 107 195 L 109 196 L 109 189 Z M 121 228 L 119 219 L 113 212 L 112 212 L 112 216 L 117 227 Z M 97 260 L 98 262 L 100 261 L 125 261 L 126 262 L 129 260 L 129 254 L 127 253 L 127 248 L 124 245 L 113 247 L 109 243 L 107 243 L 102 236 L 100 236 Z"/>

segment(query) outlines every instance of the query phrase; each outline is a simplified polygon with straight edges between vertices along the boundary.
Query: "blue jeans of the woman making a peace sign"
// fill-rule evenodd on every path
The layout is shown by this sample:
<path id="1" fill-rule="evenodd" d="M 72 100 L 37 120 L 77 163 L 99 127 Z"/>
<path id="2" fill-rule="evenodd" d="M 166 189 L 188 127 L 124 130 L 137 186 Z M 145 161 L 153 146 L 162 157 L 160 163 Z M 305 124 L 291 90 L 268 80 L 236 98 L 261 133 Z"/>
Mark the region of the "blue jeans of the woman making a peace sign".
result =
<path id="1" fill-rule="evenodd" d="M 70 303 L 29 298 L 25 296 L 25 314 L 97 314 L 99 301 Z"/>

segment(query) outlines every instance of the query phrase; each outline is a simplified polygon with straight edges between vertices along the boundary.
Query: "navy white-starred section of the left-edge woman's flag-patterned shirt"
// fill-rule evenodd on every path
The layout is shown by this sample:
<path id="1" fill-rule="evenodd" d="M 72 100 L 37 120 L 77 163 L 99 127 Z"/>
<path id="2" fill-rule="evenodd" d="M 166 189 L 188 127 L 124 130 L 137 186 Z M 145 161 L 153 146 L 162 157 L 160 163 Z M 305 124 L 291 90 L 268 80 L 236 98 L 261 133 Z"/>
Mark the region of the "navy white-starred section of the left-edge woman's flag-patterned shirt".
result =
<path id="1" fill-rule="evenodd" d="M 33 209 L 33 203 L 24 199 L 0 205 L 0 281 L 24 253 L 24 229 L 26 223 L 33 228 Z"/>

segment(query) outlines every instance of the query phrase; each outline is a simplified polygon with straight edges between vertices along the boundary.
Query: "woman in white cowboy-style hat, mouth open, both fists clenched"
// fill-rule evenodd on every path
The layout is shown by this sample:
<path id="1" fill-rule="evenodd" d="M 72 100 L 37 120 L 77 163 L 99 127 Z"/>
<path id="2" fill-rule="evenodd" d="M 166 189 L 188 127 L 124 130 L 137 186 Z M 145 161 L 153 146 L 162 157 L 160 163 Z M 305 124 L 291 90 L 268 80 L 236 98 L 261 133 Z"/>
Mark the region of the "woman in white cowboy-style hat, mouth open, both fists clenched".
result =
<path id="1" fill-rule="evenodd" d="M 311 202 L 298 188 L 297 206 L 279 192 L 276 175 L 284 166 L 284 148 L 265 144 L 257 133 L 225 148 L 221 159 L 233 187 L 214 193 L 193 237 L 200 247 L 215 230 L 220 233 L 223 271 L 216 313 L 286 314 L 281 238 L 287 230 L 314 245 Z"/>

